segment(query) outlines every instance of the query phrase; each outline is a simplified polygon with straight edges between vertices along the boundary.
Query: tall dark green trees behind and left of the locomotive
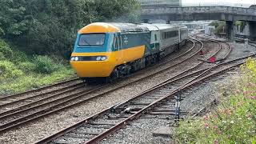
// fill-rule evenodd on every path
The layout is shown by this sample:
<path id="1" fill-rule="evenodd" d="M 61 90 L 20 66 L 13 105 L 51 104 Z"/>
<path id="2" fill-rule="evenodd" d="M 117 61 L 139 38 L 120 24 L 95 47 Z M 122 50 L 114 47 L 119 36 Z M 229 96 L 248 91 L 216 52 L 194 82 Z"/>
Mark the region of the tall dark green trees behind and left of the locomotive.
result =
<path id="1" fill-rule="evenodd" d="M 68 58 L 90 22 L 134 22 L 136 0 L 1 0 L 0 37 L 29 54 Z"/>

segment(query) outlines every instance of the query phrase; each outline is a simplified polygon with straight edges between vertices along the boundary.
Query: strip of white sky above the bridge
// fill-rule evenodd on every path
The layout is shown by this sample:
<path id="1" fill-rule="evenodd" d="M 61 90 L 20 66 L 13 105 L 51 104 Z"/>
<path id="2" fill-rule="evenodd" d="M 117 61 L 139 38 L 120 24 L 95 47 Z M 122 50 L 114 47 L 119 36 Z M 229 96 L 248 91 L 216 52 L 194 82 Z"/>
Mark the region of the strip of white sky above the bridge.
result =
<path id="1" fill-rule="evenodd" d="M 256 0 L 182 0 L 183 6 L 207 6 L 207 5 L 222 5 L 222 6 L 250 6 L 256 4 Z"/>

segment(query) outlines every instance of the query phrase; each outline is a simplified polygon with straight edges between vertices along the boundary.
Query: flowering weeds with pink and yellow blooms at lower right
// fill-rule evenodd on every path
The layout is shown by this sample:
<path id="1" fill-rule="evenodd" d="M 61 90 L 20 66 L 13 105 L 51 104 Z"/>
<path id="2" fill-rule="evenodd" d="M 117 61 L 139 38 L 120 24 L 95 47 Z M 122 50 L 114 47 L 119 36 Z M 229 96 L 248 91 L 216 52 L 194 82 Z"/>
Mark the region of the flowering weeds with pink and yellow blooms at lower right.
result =
<path id="1" fill-rule="evenodd" d="M 203 118 L 186 120 L 176 131 L 178 143 L 256 142 L 256 60 L 242 66 L 238 85 L 223 94 L 216 110 Z"/>

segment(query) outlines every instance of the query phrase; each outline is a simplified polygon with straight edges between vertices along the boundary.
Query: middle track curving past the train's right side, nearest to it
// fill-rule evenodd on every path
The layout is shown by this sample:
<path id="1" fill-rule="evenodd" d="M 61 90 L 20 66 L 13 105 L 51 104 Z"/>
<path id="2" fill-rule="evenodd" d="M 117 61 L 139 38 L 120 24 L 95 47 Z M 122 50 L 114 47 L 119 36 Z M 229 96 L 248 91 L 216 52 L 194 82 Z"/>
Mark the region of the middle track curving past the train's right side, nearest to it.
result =
<path id="1" fill-rule="evenodd" d="M 194 43 L 194 46 L 190 50 L 194 50 L 195 45 L 196 44 Z M 199 50 L 202 50 L 202 47 L 203 47 L 203 44 L 199 48 Z M 179 55 L 176 58 L 172 58 L 160 65 L 164 65 L 167 62 L 174 61 L 174 59 L 181 58 L 182 56 L 188 54 L 190 52 L 190 50 L 188 50 L 188 51 L 186 51 L 186 53 Z M 186 60 L 188 60 L 188 59 L 194 57 L 196 54 L 198 54 L 199 50 L 196 50 L 196 52 L 194 52 L 194 54 L 190 55 L 190 57 L 186 57 L 186 58 L 183 58 L 182 60 L 178 60 L 178 62 L 175 63 L 174 65 L 168 66 L 165 69 L 159 70 L 158 72 L 156 72 L 154 74 L 150 74 L 144 78 L 140 78 L 135 82 L 141 81 L 142 79 L 145 79 L 145 78 L 150 78 L 155 74 L 160 74 L 163 71 L 170 69 L 171 67 L 177 66 L 179 63 L 186 62 Z M 134 83 L 134 82 L 130 82 L 130 83 Z M 127 86 L 130 83 L 128 83 L 124 86 Z M 109 90 L 106 93 L 110 93 L 114 90 L 118 90 L 124 86 L 119 86 L 118 88 Z M 0 114 L 0 120 L 2 122 L 2 125 L 0 126 L 0 132 L 3 133 L 3 132 L 6 132 L 6 130 L 15 129 L 18 126 L 23 126 L 28 122 L 33 122 L 33 121 L 37 120 L 38 118 L 44 118 L 49 114 L 55 114 L 59 111 L 69 109 L 73 106 L 78 106 L 79 104 L 87 102 L 93 98 L 98 98 L 106 93 L 98 94 L 91 98 L 85 98 L 85 96 L 86 96 L 86 94 L 92 94 L 101 88 L 102 87 L 100 86 L 96 89 L 86 91 L 85 94 L 84 93 L 70 94 L 66 97 L 58 98 L 56 100 L 47 99 L 46 102 L 44 102 L 44 100 L 38 100 L 35 102 L 30 102 L 26 105 L 19 106 L 17 108 L 11 109 L 11 110 L 6 110 Z M 56 102 L 56 103 L 54 103 L 54 102 Z"/>

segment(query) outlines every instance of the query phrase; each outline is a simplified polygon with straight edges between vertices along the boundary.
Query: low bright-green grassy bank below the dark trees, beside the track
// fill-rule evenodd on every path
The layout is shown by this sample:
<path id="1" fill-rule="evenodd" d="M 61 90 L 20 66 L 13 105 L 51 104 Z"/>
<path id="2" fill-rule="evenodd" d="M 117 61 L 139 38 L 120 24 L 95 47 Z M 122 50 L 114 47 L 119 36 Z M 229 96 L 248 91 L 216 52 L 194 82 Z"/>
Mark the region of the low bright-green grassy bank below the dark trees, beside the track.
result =
<path id="1" fill-rule="evenodd" d="M 67 62 L 49 56 L 27 56 L 0 40 L 0 94 L 13 94 L 74 77 Z"/>

